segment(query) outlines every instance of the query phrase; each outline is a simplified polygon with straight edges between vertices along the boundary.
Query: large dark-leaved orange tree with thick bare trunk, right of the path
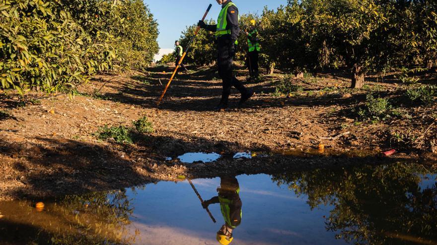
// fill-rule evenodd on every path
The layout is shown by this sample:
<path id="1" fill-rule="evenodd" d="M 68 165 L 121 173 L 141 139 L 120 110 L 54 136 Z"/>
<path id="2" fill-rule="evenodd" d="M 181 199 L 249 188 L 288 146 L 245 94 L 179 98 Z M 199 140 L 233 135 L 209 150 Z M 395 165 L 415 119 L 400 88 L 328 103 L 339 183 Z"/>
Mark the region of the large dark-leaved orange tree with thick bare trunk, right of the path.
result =
<path id="1" fill-rule="evenodd" d="M 272 62 L 301 71 L 343 67 L 364 74 L 436 57 L 436 3 L 429 0 L 289 0 L 261 18 Z"/>

